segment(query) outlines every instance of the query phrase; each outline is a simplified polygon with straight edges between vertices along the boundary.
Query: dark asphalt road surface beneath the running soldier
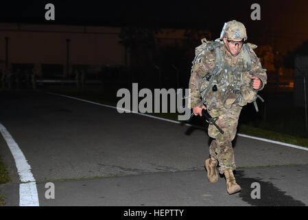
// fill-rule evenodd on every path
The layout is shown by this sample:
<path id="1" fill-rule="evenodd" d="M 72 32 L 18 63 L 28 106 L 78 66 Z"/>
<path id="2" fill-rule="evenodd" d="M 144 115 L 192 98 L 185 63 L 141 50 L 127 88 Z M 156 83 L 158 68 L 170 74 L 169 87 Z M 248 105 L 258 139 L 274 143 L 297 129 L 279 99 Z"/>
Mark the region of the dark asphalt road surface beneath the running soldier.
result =
<path id="1" fill-rule="evenodd" d="M 36 179 L 40 206 L 307 206 L 308 151 L 237 136 L 235 177 L 211 184 L 203 129 L 45 94 L 1 92 L 0 123 L 19 144 Z M 5 206 L 19 206 L 19 175 L 0 137 L 12 183 Z M 55 199 L 45 184 L 54 183 Z M 253 183 L 260 198 L 252 199 Z"/>

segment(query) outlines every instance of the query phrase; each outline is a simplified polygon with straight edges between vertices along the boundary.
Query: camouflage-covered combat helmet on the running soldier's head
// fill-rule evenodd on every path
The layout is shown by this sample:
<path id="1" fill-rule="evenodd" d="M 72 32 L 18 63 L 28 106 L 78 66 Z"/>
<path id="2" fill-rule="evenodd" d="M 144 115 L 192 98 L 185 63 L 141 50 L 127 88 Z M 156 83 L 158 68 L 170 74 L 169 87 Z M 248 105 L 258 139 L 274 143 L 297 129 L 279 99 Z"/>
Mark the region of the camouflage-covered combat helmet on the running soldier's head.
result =
<path id="1" fill-rule="evenodd" d="M 224 23 L 220 39 L 222 40 L 224 37 L 228 39 L 244 39 L 244 41 L 246 41 L 247 33 L 244 24 L 235 20 Z"/>

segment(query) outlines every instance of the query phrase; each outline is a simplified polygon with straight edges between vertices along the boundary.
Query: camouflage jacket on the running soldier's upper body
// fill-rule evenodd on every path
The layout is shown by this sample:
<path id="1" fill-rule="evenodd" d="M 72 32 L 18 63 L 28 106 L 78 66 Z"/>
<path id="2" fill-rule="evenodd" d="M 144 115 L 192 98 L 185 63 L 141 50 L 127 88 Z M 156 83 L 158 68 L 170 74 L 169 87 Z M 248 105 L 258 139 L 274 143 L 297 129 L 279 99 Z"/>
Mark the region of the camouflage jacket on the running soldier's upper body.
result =
<path id="1" fill-rule="evenodd" d="M 244 47 L 244 45 L 243 45 Z M 230 104 L 228 108 L 232 107 L 234 104 L 238 104 L 240 106 L 244 106 L 247 104 L 247 102 L 252 102 L 252 97 L 254 97 L 257 94 L 257 91 L 263 89 L 263 87 L 266 84 L 267 75 L 266 75 L 266 69 L 263 69 L 261 67 L 261 63 L 259 61 L 259 58 L 254 53 L 253 49 L 257 47 L 256 45 L 252 45 L 250 43 L 247 43 L 246 46 L 247 52 L 249 51 L 249 55 L 251 58 L 251 67 L 250 71 L 245 72 L 245 69 L 243 71 L 237 72 L 237 78 L 233 75 L 234 73 L 230 74 L 227 73 L 226 69 L 223 69 L 225 71 L 221 71 L 220 74 L 216 78 L 220 80 L 222 83 L 215 83 L 217 84 L 217 91 L 213 92 L 212 87 L 213 86 L 213 80 L 209 81 L 209 76 L 211 77 L 211 73 L 213 73 L 213 69 L 217 66 L 216 61 L 216 52 L 215 50 L 207 50 L 202 54 L 202 56 L 198 56 L 196 60 L 193 61 L 193 67 L 191 69 L 191 77 L 189 80 L 189 89 L 191 89 L 191 108 L 202 106 L 202 104 L 205 104 L 208 109 L 220 109 L 222 107 L 226 107 L 226 99 L 232 92 L 234 91 L 234 87 L 231 87 L 231 84 L 235 84 L 235 81 L 239 81 L 240 83 L 237 83 L 237 89 L 238 92 L 236 96 L 236 100 L 233 104 Z M 218 48 L 217 48 L 218 49 Z M 234 58 L 233 56 L 230 56 L 224 47 L 224 44 L 220 45 L 220 57 L 222 58 L 223 63 L 225 66 L 228 67 L 228 69 L 240 69 L 240 66 L 244 67 L 244 50 L 241 49 L 241 52 L 237 56 L 237 58 Z M 246 52 L 246 54 L 247 54 Z M 240 75 L 240 76 L 238 76 Z M 251 77 L 257 76 L 261 80 L 261 87 L 260 89 L 253 89 L 251 85 Z M 223 79 L 223 80 L 222 80 Z M 215 79 L 216 81 L 216 79 Z M 209 85 L 209 83 L 212 82 L 212 85 Z M 209 92 L 206 93 L 206 96 L 204 97 L 204 94 L 202 94 L 202 91 L 204 91 L 207 87 L 209 87 Z M 213 89 L 214 90 L 214 89 Z M 250 97 L 251 96 L 251 97 Z M 243 98 L 244 97 L 244 98 Z M 248 97 L 248 98 L 246 98 Z M 254 99 L 255 100 L 255 99 Z"/>

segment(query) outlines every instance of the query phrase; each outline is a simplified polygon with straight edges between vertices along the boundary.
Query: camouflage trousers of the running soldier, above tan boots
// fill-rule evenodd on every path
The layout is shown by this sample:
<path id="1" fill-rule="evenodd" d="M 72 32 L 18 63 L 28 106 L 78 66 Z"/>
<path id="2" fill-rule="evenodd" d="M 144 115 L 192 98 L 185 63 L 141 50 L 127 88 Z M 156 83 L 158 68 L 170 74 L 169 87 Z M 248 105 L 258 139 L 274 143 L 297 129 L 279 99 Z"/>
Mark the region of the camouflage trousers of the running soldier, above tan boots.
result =
<path id="1" fill-rule="evenodd" d="M 242 107 L 234 106 L 231 109 L 211 109 L 209 114 L 212 117 L 219 117 L 216 124 L 224 131 L 220 133 L 214 125 L 209 125 L 209 136 L 212 140 L 209 152 L 212 159 L 215 159 L 220 164 L 220 173 L 224 174 L 227 168 L 235 170 L 235 157 L 233 153 L 232 141 L 237 133 L 237 123 Z"/>

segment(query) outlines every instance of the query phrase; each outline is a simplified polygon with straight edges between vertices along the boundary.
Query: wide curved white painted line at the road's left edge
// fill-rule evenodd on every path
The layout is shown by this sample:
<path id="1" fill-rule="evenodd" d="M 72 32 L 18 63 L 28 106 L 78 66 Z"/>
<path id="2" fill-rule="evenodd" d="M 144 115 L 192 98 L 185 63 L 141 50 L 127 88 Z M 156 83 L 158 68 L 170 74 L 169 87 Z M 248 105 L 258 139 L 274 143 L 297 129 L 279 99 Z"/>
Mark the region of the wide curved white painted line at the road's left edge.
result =
<path id="1" fill-rule="evenodd" d="M 36 188 L 35 179 L 31 173 L 31 166 L 27 163 L 25 155 L 14 141 L 5 126 L 0 123 L 0 132 L 5 142 L 8 144 L 10 151 L 14 157 L 21 184 L 19 184 L 19 206 L 39 206 L 38 190 Z"/>

